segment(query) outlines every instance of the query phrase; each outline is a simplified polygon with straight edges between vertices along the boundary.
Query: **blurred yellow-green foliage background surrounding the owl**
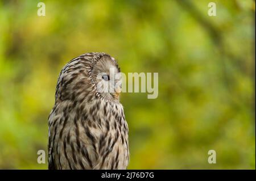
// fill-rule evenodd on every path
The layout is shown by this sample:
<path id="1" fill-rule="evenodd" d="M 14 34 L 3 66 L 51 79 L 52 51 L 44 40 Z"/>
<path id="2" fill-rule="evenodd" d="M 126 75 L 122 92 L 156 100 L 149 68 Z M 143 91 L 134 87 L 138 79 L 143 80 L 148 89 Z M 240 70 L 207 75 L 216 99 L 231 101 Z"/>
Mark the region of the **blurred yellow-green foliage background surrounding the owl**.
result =
<path id="1" fill-rule="evenodd" d="M 38 2 L 0 1 L 0 169 L 47 169 L 57 77 L 85 52 L 159 73 L 157 99 L 121 97 L 128 169 L 255 169 L 255 1 Z"/>

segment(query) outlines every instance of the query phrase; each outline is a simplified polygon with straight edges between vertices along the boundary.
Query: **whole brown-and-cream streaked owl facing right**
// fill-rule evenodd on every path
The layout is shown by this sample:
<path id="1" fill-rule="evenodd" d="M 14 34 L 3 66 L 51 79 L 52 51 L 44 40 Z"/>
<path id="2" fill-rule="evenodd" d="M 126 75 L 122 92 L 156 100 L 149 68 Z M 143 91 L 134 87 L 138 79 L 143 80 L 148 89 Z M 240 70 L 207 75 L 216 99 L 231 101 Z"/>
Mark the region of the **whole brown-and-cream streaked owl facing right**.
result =
<path id="1" fill-rule="evenodd" d="M 128 125 L 120 79 L 113 81 L 110 70 L 120 72 L 106 53 L 82 54 L 61 70 L 48 117 L 48 169 L 127 168 Z"/>

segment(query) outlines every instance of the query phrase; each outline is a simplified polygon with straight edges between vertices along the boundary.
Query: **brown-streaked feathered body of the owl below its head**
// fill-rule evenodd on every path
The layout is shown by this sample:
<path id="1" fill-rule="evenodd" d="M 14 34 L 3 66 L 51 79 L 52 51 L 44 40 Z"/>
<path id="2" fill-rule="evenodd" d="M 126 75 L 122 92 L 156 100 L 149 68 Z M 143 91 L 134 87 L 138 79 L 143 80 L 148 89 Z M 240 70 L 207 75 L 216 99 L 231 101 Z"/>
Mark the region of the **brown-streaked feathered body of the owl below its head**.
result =
<path id="1" fill-rule="evenodd" d="M 98 116 L 93 107 L 81 110 L 53 111 L 49 116 L 48 168 L 126 169 L 128 127 L 123 111 L 108 109 L 108 116 Z"/>

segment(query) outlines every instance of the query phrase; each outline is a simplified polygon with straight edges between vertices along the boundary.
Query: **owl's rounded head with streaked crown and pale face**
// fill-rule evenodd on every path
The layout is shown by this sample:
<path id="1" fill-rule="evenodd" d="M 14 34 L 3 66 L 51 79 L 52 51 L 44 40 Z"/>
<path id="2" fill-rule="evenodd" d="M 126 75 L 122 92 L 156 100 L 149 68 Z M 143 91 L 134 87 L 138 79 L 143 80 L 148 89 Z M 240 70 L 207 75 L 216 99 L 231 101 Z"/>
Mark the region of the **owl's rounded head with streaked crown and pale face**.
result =
<path id="1" fill-rule="evenodd" d="M 55 102 L 81 103 L 94 99 L 119 102 L 121 73 L 117 61 L 106 53 L 85 53 L 61 70 Z"/>

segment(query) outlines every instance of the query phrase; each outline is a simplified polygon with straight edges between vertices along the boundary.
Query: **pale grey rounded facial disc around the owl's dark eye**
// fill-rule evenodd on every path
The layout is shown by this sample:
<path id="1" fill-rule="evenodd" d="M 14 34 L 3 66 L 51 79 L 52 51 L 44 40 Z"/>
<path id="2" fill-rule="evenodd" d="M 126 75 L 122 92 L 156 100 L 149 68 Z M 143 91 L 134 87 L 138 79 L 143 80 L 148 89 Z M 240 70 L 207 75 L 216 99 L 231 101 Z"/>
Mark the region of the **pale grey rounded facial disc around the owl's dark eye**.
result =
<path id="1" fill-rule="evenodd" d="M 117 62 L 110 56 L 103 56 L 92 69 L 92 77 L 97 91 L 106 99 L 119 99 L 121 76 Z"/>

